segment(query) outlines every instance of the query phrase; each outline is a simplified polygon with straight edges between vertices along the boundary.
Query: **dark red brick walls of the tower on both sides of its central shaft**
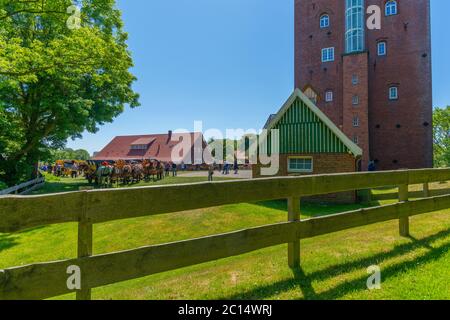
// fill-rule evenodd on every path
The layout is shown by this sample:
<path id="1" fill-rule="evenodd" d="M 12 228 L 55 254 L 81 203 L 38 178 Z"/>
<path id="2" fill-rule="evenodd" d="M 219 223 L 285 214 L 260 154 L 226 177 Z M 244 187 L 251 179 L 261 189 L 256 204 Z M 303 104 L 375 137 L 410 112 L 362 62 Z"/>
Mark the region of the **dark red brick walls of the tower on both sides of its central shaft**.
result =
<path id="1" fill-rule="evenodd" d="M 382 29 L 366 30 L 369 134 L 362 147 L 368 148 L 370 155 L 366 152 L 365 158 L 378 160 L 380 170 L 431 167 L 430 1 L 400 0 L 399 14 L 390 17 L 384 16 L 384 3 L 384 0 L 366 1 L 367 6 L 379 5 L 383 12 Z M 320 29 L 319 18 L 323 13 L 330 15 L 330 28 Z M 304 89 L 311 85 L 322 98 L 318 107 L 347 131 L 345 88 L 349 73 L 344 72 L 344 14 L 345 1 L 295 1 L 295 87 Z M 388 43 L 386 57 L 377 56 L 379 40 Z M 335 47 L 335 61 L 322 63 L 321 49 L 327 47 Z M 364 68 L 365 62 L 361 63 Z M 388 99 L 391 84 L 399 85 L 398 101 Z M 330 89 L 334 91 L 334 101 L 326 103 L 324 94 Z M 363 169 L 366 168 L 364 165 Z"/>

